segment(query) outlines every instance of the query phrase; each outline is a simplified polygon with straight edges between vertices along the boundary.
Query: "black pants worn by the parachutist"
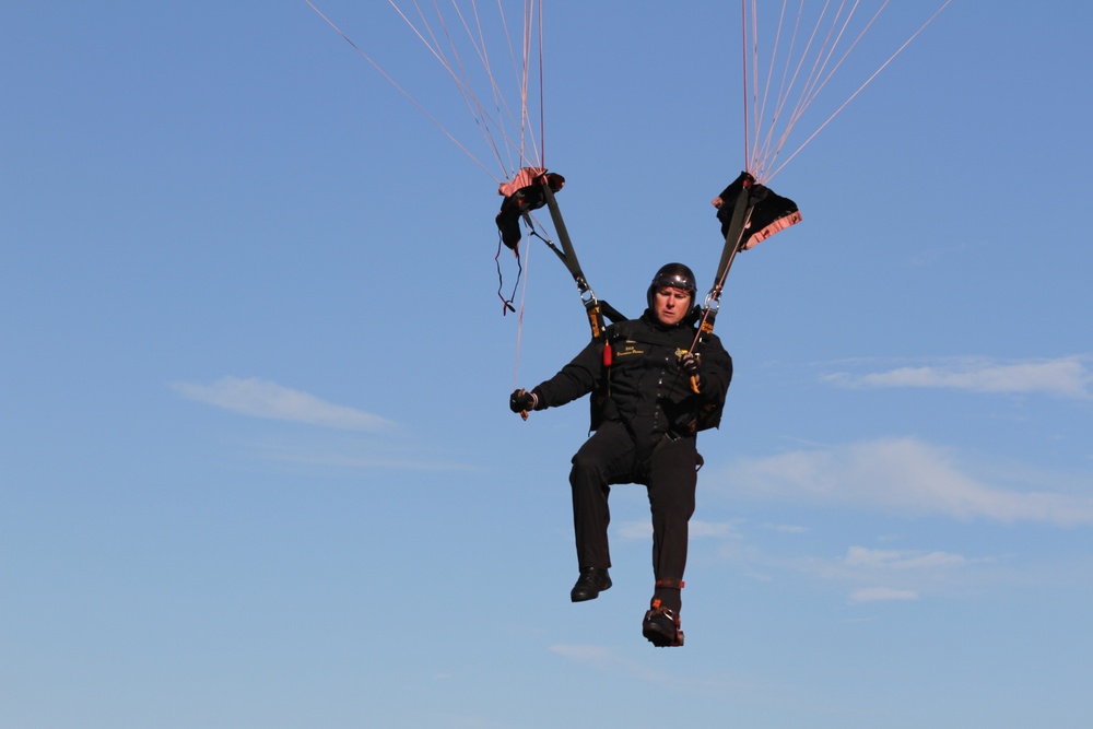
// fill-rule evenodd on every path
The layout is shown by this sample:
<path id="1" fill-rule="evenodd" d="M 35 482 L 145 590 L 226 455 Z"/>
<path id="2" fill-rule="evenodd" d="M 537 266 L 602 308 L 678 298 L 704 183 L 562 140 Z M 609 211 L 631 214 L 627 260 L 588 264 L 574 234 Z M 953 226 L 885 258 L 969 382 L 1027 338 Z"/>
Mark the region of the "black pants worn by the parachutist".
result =
<path id="1" fill-rule="evenodd" d="M 607 422 L 573 457 L 573 529 L 580 567 L 611 566 L 608 495 L 619 483 L 640 483 L 653 512 L 653 573 L 657 580 L 682 583 L 686 566 L 687 521 L 694 514 L 698 454 L 694 437 L 658 438 L 639 448 L 620 423 Z M 680 609 L 678 588 L 658 588 L 666 608 Z"/>

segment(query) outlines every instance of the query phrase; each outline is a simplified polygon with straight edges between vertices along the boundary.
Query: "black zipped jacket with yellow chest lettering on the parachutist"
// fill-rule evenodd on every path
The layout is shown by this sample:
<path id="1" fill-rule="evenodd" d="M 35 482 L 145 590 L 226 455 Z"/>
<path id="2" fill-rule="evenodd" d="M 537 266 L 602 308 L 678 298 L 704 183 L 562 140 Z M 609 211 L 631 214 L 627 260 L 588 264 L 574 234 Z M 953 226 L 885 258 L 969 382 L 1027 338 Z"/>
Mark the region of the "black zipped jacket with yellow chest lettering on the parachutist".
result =
<path id="1" fill-rule="evenodd" d="M 590 342 L 556 375 L 532 391 L 537 410 L 556 408 L 589 392 L 592 425 L 616 421 L 639 440 L 670 433 L 690 435 L 716 427 L 732 379 L 732 358 L 715 334 L 703 338 L 700 392 L 680 371 L 678 361 L 694 341 L 694 316 L 666 327 L 648 309 L 639 319 L 607 328 L 611 364 L 603 346 Z"/>

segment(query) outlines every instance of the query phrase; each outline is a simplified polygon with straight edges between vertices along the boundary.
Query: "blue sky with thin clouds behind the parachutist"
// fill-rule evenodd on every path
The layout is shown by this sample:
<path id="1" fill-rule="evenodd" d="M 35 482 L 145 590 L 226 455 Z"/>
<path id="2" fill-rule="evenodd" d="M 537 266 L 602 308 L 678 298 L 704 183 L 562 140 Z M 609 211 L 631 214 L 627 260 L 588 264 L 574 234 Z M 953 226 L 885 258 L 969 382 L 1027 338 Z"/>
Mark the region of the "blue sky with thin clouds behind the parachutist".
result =
<path id="1" fill-rule="evenodd" d="M 386 3 L 317 4 L 489 166 Z M 546 158 L 636 315 L 713 277 L 739 7 L 589 5 L 546 9 Z M 1090 27 L 956 0 L 772 180 L 804 220 L 729 277 L 658 650 L 639 486 L 568 601 L 587 409 L 507 397 L 587 328 L 542 246 L 502 316 L 490 174 L 303 0 L 4 4 L 0 724 L 1085 726 Z"/>

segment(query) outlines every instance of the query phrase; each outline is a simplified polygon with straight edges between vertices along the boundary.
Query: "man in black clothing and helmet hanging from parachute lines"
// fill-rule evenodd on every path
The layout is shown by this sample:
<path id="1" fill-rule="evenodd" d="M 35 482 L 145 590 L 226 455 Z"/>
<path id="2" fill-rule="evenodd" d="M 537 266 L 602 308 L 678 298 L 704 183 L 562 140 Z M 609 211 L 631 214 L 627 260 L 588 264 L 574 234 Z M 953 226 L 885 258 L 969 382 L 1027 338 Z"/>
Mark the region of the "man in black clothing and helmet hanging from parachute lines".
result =
<path id="1" fill-rule="evenodd" d="M 694 274 L 669 263 L 653 279 L 638 319 L 608 327 L 607 346 L 590 342 L 556 375 L 517 390 L 514 412 L 544 410 L 592 393 L 596 431 L 573 457 L 573 524 L 580 576 L 574 602 L 611 587 L 608 494 L 620 483 L 648 489 L 656 578 L 642 631 L 656 646 L 683 644 L 679 612 L 702 457 L 695 434 L 715 427 L 732 378 L 732 360 L 713 333 L 692 353 L 698 309 Z"/>

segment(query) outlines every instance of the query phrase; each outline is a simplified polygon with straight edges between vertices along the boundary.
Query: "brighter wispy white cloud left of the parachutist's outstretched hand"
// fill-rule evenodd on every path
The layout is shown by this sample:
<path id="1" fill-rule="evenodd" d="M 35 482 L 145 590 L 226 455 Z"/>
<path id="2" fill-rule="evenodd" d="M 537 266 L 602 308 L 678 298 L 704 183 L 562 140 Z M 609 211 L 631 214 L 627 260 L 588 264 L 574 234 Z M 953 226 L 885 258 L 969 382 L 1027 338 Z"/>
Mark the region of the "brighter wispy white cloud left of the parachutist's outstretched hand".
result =
<path id="1" fill-rule="evenodd" d="M 173 383 L 172 388 L 190 400 L 255 418 L 371 433 L 395 427 L 393 422 L 379 415 L 337 405 L 314 395 L 254 377 L 223 377 L 212 385 Z"/>

